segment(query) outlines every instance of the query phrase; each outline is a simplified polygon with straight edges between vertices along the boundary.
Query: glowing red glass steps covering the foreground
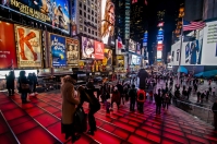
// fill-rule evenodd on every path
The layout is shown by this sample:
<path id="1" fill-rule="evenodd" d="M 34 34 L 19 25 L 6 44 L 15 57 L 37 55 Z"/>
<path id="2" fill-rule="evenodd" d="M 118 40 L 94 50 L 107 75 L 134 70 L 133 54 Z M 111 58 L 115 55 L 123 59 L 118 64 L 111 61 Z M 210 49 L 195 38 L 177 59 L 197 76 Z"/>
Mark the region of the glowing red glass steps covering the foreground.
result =
<path id="1" fill-rule="evenodd" d="M 22 105 L 20 95 L 12 97 L 0 93 L 0 109 L 9 123 L 8 131 L 1 132 L 0 142 L 5 133 L 21 144 L 70 144 L 61 134 L 61 96 L 59 91 L 31 97 L 29 104 Z M 84 104 L 88 112 L 88 105 Z M 216 144 L 217 132 L 213 127 L 200 121 L 184 111 L 170 106 L 155 115 L 155 105 L 145 103 L 144 113 L 130 112 L 129 104 L 106 113 L 104 106 L 95 115 L 97 131 L 94 136 L 82 134 L 75 144 Z M 1 128 L 0 125 L 0 128 Z M 11 128 L 11 131 L 9 131 Z M 14 135 L 13 135 L 14 133 Z M 4 144 L 4 143 L 3 143 Z"/>

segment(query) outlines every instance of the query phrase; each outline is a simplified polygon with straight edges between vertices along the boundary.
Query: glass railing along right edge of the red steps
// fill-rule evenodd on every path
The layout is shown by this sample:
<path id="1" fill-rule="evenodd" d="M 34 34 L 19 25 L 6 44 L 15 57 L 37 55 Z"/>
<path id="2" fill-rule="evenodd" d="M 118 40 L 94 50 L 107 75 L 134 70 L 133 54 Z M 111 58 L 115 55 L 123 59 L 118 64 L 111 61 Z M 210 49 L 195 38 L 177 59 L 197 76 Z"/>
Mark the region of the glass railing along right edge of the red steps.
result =
<path id="1" fill-rule="evenodd" d="M 214 125 L 214 113 L 210 106 L 195 105 L 189 101 L 179 100 L 176 97 L 172 98 L 172 105 L 194 116 L 195 118 Z"/>

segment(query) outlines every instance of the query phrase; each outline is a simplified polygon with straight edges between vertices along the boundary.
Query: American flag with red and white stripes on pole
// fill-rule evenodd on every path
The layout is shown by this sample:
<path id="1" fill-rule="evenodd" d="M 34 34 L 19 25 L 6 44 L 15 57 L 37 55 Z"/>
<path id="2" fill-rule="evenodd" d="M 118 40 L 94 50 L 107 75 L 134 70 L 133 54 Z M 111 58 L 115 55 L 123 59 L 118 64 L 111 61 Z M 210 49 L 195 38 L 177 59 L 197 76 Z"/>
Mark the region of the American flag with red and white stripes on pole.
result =
<path id="1" fill-rule="evenodd" d="M 206 26 L 206 23 L 204 22 L 188 22 L 183 21 L 183 32 L 184 31 L 195 31 L 201 29 Z"/>

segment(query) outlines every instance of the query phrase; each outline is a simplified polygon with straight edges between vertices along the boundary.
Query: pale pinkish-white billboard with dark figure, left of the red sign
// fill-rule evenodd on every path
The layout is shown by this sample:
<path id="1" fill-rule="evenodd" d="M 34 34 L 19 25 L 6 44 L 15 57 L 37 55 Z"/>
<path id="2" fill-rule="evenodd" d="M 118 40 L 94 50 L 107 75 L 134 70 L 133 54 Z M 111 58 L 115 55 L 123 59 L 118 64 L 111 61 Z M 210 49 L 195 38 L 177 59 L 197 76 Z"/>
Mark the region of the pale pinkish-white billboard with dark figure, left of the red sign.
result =
<path id="1" fill-rule="evenodd" d="M 82 37 L 82 59 L 94 59 L 94 40 L 87 37 Z"/>

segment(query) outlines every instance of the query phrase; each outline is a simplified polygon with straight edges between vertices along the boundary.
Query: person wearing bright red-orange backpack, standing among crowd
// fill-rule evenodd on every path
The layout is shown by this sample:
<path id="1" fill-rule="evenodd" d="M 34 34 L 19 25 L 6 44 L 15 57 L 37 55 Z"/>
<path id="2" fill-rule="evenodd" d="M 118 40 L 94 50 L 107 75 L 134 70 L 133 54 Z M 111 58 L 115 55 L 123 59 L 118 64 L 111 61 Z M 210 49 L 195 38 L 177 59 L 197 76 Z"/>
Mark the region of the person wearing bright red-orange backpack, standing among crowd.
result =
<path id="1" fill-rule="evenodd" d="M 143 112 L 143 107 L 144 107 L 144 103 L 145 103 L 145 97 L 146 97 L 146 93 L 144 89 L 138 89 L 137 91 L 137 110 L 140 112 Z"/>

